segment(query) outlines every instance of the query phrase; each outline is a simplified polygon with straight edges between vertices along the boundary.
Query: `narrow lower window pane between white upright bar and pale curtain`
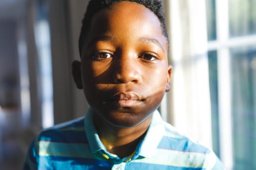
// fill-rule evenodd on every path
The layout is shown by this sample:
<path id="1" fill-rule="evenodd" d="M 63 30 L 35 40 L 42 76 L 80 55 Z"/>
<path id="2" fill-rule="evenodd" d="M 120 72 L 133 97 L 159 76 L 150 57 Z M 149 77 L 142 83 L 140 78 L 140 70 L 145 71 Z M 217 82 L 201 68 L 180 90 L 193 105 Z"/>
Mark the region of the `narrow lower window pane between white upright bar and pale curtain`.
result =
<path id="1" fill-rule="evenodd" d="M 213 150 L 219 157 L 219 126 L 218 126 L 218 75 L 217 75 L 217 51 L 208 52 L 209 83 L 211 95 Z"/>

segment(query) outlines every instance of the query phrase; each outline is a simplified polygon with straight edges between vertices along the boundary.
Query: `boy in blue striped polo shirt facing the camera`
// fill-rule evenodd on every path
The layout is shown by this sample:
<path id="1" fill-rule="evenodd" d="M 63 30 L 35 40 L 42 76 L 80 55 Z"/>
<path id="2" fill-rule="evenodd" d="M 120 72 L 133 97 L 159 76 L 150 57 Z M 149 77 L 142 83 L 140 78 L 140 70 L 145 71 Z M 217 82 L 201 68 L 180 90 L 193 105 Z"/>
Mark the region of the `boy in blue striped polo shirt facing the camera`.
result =
<path id="1" fill-rule="evenodd" d="M 73 76 L 85 118 L 46 129 L 24 169 L 222 170 L 209 149 L 179 135 L 157 108 L 170 90 L 169 40 L 158 0 L 91 0 Z"/>

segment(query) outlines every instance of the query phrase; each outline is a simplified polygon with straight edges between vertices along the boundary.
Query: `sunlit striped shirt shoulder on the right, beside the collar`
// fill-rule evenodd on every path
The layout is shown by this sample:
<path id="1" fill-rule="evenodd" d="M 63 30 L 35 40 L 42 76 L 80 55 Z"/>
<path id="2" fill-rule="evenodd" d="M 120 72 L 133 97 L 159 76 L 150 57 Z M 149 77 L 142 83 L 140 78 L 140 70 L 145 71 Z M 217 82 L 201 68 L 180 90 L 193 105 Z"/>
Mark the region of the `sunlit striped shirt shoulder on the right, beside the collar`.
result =
<path id="1" fill-rule="evenodd" d="M 165 162 L 166 165 L 220 169 L 222 165 L 212 149 L 179 133 L 174 126 L 162 122 L 163 135 L 154 156 L 148 162 Z"/>

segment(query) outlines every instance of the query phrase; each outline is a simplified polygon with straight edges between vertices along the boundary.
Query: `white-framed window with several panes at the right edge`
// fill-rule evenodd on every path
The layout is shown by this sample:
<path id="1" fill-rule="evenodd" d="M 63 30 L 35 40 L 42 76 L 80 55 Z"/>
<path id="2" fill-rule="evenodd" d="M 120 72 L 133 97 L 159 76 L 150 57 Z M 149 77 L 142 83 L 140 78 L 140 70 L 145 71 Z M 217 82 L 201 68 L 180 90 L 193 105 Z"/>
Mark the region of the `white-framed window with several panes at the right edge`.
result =
<path id="1" fill-rule="evenodd" d="M 256 0 L 206 0 L 214 150 L 256 169 Z"/>

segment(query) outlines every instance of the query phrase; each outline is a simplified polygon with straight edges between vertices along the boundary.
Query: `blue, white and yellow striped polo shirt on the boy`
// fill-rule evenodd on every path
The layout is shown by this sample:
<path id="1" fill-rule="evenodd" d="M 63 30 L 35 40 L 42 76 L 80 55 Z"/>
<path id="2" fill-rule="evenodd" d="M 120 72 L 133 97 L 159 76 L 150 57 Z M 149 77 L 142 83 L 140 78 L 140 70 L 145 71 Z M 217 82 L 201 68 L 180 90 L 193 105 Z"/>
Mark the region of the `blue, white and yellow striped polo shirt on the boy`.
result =
<path id="1" fill-rule="evenodd" d="M 32 142 L 23 170 L 223 170 L 212 150 L 177 133 L 156 110 L 145 137 L 125 158 L 109 153 L 85 117 L 43 130 Z"/>

